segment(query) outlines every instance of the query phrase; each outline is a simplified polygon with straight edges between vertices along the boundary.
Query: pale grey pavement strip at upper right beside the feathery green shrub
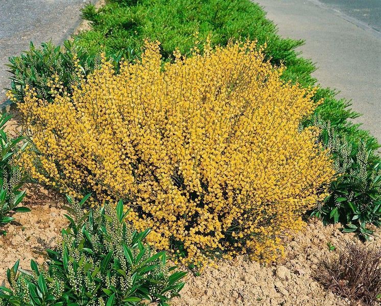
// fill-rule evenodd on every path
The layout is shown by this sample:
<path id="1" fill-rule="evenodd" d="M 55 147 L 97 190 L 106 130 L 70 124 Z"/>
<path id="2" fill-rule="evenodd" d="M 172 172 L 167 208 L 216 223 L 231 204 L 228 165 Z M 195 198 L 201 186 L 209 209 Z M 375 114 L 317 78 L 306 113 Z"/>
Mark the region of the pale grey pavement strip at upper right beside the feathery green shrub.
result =
<path id="1" fill-rule="evenodd" d="M 324 1 L 324 0 L 323 0 Z M 256 0 L 278 24 L 283 37 L 305 39 L 303 56 L 317 62 L 313 76 L 338 97 L 352 99 L 352 109 L 381 142 L 381 35 L 364 22 L 316 0 Z"/>

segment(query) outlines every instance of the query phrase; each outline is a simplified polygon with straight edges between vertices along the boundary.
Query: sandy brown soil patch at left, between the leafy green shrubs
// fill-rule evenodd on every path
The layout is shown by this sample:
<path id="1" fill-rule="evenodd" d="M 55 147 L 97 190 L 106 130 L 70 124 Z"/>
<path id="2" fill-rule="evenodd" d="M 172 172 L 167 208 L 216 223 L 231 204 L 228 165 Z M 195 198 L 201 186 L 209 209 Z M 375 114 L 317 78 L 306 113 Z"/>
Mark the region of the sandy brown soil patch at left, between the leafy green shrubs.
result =
<path id="1" fill-rule="evenodd" d="M 20 260 L 20 268 L 30 270 L 31 259 L 44 262 L 40 252 L 59 243 L 62 228 L 68 225 L 62 209 L 63 198 L 45 188 L 27 184 L 27 196 L 22 206 L 30 213 L 16 213 L 10 224 L 0 227 L 6 235 L 0 236 L 0 284 L 6 285 L 6 271 Z"/>

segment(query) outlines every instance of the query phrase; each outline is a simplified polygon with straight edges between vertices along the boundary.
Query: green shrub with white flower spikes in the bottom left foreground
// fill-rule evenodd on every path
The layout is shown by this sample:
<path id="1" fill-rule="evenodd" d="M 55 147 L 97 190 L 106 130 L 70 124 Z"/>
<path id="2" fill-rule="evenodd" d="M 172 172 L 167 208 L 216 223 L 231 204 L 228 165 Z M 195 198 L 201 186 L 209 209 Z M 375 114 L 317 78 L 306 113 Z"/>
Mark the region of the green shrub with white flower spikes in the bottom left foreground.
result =
<path id="1" fill-rule="evenodd" d="M 165 252 L 143 244 L 150 230 L 137 233 L 126 224 L 121 201 L 116 211 L 106 205 L 84 214 L 87 197 L 72 203 L 60 249 L 47 250 L 47 271 L 33 260 L 32 273 L 17 273 L 18 261 L 8 269 L 13 290 L 0 287 L 0 305 L 166 305 L 179 295 L 186 272 L 172 272 Z"/>

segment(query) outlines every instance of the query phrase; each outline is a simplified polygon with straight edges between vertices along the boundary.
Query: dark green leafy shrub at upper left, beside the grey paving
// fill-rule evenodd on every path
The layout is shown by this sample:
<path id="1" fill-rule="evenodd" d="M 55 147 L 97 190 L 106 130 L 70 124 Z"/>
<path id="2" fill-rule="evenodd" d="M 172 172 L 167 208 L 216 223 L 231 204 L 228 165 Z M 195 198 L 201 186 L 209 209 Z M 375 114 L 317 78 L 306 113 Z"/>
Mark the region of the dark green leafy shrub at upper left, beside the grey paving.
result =
<path id="1" fill-rule="evenodd" d="M 85 48 L 76 42 L 66 40 L 64 47 L 55 46 L 52 42 L 41 43 L 36 48 L 30 44 L 29 51 L 18 57 L 10 57 L 9 72 L 10 96 L 14 101 L 22 101 L 25 97 L 25 88 L 35 88 L 38 96 L 52 99 L 54 93 L 51 84 L 60 84 L 58 92 L 65 88 L 71 92 L 73 86 L 78 86 L 81 75 L 87 75 L 96 67 L 97 57 L 90 55 Z"/>

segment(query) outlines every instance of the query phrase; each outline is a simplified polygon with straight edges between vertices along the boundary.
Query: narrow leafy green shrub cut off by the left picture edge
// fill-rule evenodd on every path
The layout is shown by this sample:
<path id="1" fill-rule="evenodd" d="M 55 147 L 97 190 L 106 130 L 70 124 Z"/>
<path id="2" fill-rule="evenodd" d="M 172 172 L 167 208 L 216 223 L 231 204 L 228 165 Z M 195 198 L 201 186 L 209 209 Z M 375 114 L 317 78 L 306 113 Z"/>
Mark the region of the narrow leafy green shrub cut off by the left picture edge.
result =
<path id="1" fill-rule="evenodd" d="M 24 177 L 17 166 L 18 144 L 21 137 L 11 139 L 4 131 L 5 124 L 12 116 L 3 114 L 0 118 L 0 226 L 11 222 L 14 218 L 9 216 L 10 212 L 29 212 L 26 207 L 18 207 L 25 191 L 19 191 Z"/>

